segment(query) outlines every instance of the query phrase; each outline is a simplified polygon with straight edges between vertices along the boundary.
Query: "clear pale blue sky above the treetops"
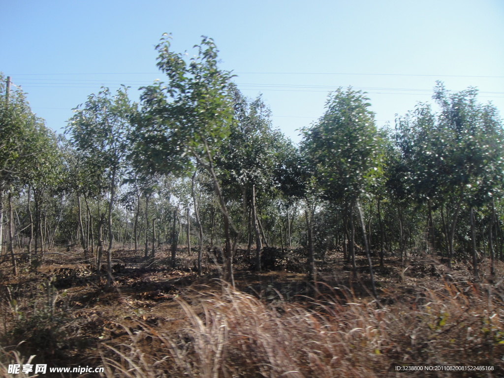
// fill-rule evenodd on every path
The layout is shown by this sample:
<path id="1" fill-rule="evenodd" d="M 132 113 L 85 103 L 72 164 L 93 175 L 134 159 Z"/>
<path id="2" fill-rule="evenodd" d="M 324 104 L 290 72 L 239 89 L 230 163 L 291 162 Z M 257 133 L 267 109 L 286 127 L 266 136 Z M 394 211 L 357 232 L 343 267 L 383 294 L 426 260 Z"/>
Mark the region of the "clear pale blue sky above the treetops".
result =
<path id="1" fill-rule="evenodd" d="M 368 92 L 379 125 L 418 101 L 436 80 L 476 86 L 504 111 L 504 1 L 50 1 L 4 0 L 0 71 L 28 92 L 58 131 L 102 85 L 162 79 L 154 45 L 174 51 L 212 37 L 247 96 L 263 93 L 273 124 L 294 141 L 340 86 Z"/>

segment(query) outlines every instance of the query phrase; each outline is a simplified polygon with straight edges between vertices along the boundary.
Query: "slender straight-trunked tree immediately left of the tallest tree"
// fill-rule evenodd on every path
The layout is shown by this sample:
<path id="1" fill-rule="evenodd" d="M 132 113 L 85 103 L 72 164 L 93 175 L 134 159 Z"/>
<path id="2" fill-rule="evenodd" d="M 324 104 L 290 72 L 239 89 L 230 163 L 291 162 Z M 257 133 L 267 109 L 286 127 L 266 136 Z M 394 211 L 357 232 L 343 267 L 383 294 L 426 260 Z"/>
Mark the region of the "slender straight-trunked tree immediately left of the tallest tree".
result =
<path id="1" fill-rule="evenodd" d="M 112 209 L 118 177 L 130 153 L 130 118 L 137 104 L 130 101 L 125 87 L 118 89 L 115 95 L 108 88 L 102 88 L 97 95 L 88 96 L 84 107 L 80 107 L 75 109 L 66 133 L 71 135 L 73 145 L 85 156 L 89 165 L 105 172 L 108 178 L 108 289 L 112 280 Z"/>

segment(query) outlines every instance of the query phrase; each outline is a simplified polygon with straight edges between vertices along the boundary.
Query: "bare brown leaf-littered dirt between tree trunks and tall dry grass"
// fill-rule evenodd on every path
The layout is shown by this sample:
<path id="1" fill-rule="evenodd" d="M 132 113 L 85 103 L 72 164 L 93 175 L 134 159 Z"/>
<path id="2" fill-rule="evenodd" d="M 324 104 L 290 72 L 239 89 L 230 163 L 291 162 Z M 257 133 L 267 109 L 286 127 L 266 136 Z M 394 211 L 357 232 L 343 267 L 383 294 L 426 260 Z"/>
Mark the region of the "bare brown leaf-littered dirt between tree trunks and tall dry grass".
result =
<path id="1" fill-rule="evenodd" d="M 317 262 L 318 282 L 314 283 L 307 281 L 302 249 L 285 255 L 276 270 L 257 273 L 250 270 L 253 257 L 238 250 L 235 289 L 265 302 L 297 302 L 314 309 L 325 297 L 339 298 L 342 303 L 349 298 L 374 300 L 364 256 L 357 257 L 355 278 L 343 254 L 330 251 L 325 261 Z M 105 273 L 97 276 L 94 266 L 84 265 L 79 249 L 46 251 L 41 264 L 21 262 L 17 276 L 10 262 L 4 262 L 0 265 L 0 345 L 4 352 L 16 349 L 24 358 L 36 355 L 32 363 L 97 366 L 110 352 L 107 346 L 130 342 L 138 330 L 147 327 L 176 333 L 186 318 L 178 299 L 194 303 L 195 311 L 200 311 L 202 298 L 219 295 L 228 284 L 208 259 L 203 276 L 198 277 L 195 250 L 189 254 L 179 248 L 178 269 L 170 268 L 169 256 L 168 248 L 157 250 L 154 259 L 143 258 L 141 251 L 114 250 L 113 287 L 108 292 L 104 291 Z M 377 259 L 373 262 L 381 305 L 423 304 L 428 290 L 438 290 L 446 282 L 457 285 L 473 280 L 472 267 L 465 260 L 457 261 L 453 269 L 425 254 L 410 255 L 403 263 L 389 256 L 385 268 L 378 266 Z M 485 261 L 479 281 L 496 286 L 504 274 L 502 263 L 497 263 L 497 273 L 490 276 Z M 152 340 L 152 347 L 158 342 Z"/>

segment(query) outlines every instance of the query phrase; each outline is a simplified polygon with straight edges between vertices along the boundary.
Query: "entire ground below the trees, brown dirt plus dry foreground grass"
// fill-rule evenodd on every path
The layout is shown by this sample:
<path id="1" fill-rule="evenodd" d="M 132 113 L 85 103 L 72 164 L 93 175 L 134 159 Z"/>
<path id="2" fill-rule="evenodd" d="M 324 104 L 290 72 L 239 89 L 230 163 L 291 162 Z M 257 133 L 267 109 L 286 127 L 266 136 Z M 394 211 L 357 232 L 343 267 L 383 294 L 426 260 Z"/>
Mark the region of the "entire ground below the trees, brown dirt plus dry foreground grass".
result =
<path id="1" fill-rule="evenodd" d="M 254 251 L 253 251 L 254 253 Z M 8 365 L 104 366 L 101 376 L 504 376 L 504 264 L 433 255 L 373 258 L 355 278 L 340 251 L 306 277 L 302 249 L 279 270 L 253 272 L 239 249 L 235 287 L 214 264 L 195 273 L 196 251 L 155 259 L 113 251 L 113 288 L 82 263 L 82 249 L 49 250 L 42 264 L 0 264 L 0 377 Z M 0 256 L 0 261 L 2 257 Z M 100 376 L 49 373 L 39 376 Z"/>

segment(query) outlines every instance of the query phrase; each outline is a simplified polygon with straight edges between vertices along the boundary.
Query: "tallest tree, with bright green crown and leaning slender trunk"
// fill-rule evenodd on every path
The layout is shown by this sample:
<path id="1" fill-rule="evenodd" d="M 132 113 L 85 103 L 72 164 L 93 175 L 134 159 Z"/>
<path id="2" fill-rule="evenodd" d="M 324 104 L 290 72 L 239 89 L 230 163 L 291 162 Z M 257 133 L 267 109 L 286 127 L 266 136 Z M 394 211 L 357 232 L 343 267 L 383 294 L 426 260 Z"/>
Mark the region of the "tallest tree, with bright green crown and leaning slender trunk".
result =
<path id="1" fill-rule="evenodd" d="M 142 156 L 152 157 L 146 159 L 152 163 L 145 163 L 152 170 L 175 171 L 195 163 L 208 172 L 224 216 L 224 278 L 232 281 L 231 219 L 214 164 L 233 121 L 231 74 L 218 68 L 218 50 L 211 38 L 203 37 L 195 46 L 197 54 L 188 59 L 170 51 L 170 38 L 164 34 L 156 46 L 157 66 L 168 82 L 144 88 L 142 111 L 135 119 L 136 149 Z"/>

